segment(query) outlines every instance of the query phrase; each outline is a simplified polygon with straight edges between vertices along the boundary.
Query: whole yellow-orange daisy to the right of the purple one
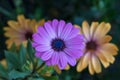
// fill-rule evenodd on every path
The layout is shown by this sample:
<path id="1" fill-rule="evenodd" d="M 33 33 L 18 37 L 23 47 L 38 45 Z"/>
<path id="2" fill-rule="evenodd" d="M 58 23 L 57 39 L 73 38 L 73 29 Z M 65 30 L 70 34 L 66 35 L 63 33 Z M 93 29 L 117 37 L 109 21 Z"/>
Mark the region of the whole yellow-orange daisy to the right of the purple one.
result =
<path id="1" fill-rule="evenodd" d="M 101 64 L 107 68 L 110 63 L 114 63 L 118 48 L 115 44 L 109 43 L 112 37 L 106 34 L 110 28 L 111 25 L 105 22 L 93 22 L 91 27 L 86 21 L 82 23 L 81 33 L 84 34 L 86 47 L 83 50 L 84 55 L 78 60 L 78 72 L 88 67 L 93 75 L 102 71 Z"/>

